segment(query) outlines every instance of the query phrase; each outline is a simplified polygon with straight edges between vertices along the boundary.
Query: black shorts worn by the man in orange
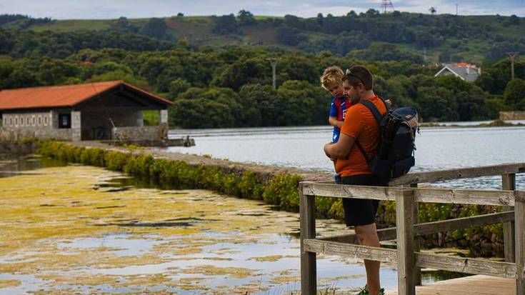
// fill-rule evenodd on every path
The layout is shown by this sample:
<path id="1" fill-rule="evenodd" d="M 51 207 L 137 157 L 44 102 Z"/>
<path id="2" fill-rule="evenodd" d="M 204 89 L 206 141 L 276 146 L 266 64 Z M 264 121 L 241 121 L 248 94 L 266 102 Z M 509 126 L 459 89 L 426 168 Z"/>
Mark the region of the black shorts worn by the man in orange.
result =
<path id="1" fill-rule="evenodd" d="M 344 176 L 342 182 L 358 186 L 386 186 L 377 176 L 369 174 Z M 343 199 L 343 208 L 346 226 L 373 224 L 376 222 L 379 200 Z"/>

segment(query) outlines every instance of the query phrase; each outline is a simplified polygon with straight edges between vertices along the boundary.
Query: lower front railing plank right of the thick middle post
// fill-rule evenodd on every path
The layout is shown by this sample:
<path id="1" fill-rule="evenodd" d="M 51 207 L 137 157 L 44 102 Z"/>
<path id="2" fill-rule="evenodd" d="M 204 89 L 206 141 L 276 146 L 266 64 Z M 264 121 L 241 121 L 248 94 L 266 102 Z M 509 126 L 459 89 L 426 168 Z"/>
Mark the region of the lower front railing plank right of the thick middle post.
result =
<path id="1" fill-rule="evenodd" d="M 502 278 L 514 278 L 516 276 L 516 264 L 487 259 L 458 258 L 417 252 L 416 265 L 421 268 L 442 269 L 465 274 L 484 274 Z"/>

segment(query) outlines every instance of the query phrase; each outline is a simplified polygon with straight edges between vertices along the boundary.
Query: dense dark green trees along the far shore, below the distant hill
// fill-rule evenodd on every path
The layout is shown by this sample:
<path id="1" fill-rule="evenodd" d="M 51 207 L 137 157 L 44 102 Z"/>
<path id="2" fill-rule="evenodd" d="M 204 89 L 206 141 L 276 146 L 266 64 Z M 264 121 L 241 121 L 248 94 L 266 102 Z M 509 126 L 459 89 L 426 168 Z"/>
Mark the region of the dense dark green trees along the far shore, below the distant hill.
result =
<path id="1" fill-rule="evenodd" d="M 267 59 L 279 56 L 277 89 Z M 170 120 L 184 128 L 326 124 L 331 96 L 319 76 L 331 65 L 364 64 L 374 89 L 394 106 L 416 106 L 424 121 L 496 118 L 498 111 L 525 109 L 525 60 L 487 64 L 476 83 L 434 77 L 439 68 L 404 61 L 368 61 L 328 52 L 306 54 L 263 47 L 189 48 L 165 51 L 81 49 L 64 59 L 0 58 L 0 89 L 122 79 L 174 101 Z"/>

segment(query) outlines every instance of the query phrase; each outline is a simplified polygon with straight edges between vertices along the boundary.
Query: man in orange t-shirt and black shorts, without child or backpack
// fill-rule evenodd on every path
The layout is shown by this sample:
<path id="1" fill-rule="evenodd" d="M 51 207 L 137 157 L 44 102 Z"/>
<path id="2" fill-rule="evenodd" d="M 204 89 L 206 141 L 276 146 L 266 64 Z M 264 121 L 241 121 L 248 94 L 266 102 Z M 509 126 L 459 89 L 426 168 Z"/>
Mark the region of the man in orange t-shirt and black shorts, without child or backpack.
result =
<path id="1" fill-rule="evenodd" d="M 363 186 L 386 186 L 368 169 L 364 155 L 356 141 L 370 158 L 376 154 L 379 142 L 379 124 L 374 114 L 360 101 L 369 100 L 382 115 L 386 114 L 384 102 L 374 94 L 374 79 L 364 66 L 353 66 L 346 70 L 343 78 L 344 92 L 353 106 L 346 112 L 341 136 L 336 144 L 326 144 L 324 152 L 336 161 L 336 173 L 341 175 L 342 184 Z M 370 199 L 343 199 L 344 216 L 347 226 L 355 226 L 359 243 L 379 247 L 376 229 L 376 212 L 379 201 Z M 365 260 L 366 288 L 359 294 L 381 295 L 384 290 L 379 283 L 379 261 Z"/>

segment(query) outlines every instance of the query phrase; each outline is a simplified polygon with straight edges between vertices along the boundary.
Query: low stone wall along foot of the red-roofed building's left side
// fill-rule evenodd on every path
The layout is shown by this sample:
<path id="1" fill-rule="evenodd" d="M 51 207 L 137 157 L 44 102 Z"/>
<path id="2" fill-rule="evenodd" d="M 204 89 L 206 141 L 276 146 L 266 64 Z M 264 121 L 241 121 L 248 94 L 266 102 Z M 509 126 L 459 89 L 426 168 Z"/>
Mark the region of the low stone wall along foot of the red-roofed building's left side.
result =
<path id="1" fill-rule="evenodd" d="M 0 128 L 0 140 L 3 141 L 19 141 L 22 139 L 59 139 L 71 140 L 71 129 L 51 129 L 48 127 L 32 127 L 32 128 Z"/>

